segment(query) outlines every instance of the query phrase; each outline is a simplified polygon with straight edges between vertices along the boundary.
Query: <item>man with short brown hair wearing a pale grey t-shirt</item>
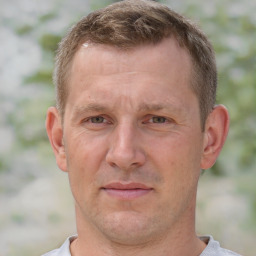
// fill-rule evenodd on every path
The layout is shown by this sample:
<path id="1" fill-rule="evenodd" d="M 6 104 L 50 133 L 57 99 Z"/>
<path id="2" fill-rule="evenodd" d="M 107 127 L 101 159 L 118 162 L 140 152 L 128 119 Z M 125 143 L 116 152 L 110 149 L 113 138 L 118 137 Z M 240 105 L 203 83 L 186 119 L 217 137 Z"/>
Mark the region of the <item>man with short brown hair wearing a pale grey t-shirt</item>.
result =
<path id="1" fill-rule="evenodd" d="M 46 128 L 78 235 L 47 256 L 237 255 L 195 232 L 200 172 L 229 126 L 196 26 L 153 1 L 115 3 L 70 30 L 54 78 Z"/>

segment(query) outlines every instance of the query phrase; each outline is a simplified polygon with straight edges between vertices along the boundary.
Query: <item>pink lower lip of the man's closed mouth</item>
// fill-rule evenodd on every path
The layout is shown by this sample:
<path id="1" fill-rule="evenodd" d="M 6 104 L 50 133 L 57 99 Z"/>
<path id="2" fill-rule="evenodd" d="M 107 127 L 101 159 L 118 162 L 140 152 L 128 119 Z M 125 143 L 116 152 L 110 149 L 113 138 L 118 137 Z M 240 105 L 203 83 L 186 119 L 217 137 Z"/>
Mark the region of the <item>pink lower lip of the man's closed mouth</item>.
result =
<path id="1" fill-rule="evenodd" d="M 152 191 L 152 189 L 104 189 L 108 195 L 123 200 L 135 199 L 144 196 Z"/>

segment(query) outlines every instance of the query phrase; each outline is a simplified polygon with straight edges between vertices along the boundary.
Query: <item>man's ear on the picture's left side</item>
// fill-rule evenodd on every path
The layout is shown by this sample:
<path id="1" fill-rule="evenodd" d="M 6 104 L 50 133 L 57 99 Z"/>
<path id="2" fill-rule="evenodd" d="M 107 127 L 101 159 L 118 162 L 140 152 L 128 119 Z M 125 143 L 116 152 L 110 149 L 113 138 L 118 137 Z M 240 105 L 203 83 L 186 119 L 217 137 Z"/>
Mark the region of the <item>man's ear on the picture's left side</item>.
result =
<path id="1" fill-rule="evenodd" d="M 55 107 L 50 107 L 48 109 L 45 126 L 55 154 L 56 162 L 62 171 L 67 171 L 67 159 L 63 143 L 61 116 Z"/>

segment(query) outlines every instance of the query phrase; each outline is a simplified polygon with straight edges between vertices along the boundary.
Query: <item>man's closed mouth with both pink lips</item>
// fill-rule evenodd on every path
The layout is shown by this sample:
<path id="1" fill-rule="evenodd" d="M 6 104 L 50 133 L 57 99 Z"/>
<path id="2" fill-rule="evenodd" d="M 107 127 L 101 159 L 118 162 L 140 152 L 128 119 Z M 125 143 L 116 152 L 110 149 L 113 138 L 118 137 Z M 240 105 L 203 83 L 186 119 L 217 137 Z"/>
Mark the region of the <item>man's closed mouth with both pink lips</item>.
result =
<path id="1" fill-rule="evenodd" d="M 142 183 L 110 183 L 102 187 L 109 196 L 122 200 L 132 200 L 150 193 L 153 188 L 148 187 Z"/>

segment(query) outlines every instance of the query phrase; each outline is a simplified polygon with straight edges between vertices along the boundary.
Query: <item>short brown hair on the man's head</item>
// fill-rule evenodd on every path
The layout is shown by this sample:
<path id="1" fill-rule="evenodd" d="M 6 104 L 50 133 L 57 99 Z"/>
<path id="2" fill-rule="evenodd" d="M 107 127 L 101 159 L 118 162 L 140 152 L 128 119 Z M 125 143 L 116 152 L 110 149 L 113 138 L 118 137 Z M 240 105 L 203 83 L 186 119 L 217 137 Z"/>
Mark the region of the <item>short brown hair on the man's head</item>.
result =
<path id="1" fill-rule="evenodd" d="M 174 37 L 190 54 L 191 87 L 198 97 L 202 129 L 216 100 L 217 70 L 213 48 L 204 33 L 167 6 L 150 0 L 126 0 L 90 13 L 73 26 L 59 44 L 54 82 L 62 116 L 73 57 L 85 42 L 132 49 Z"/>

